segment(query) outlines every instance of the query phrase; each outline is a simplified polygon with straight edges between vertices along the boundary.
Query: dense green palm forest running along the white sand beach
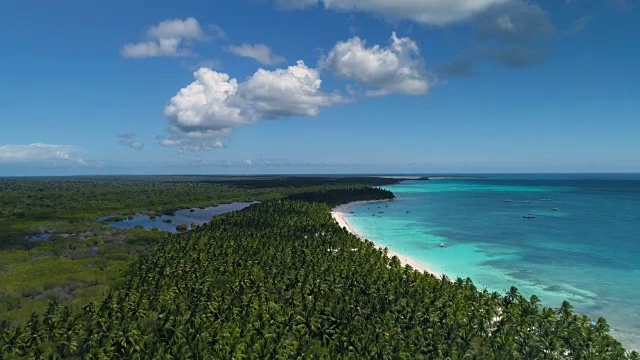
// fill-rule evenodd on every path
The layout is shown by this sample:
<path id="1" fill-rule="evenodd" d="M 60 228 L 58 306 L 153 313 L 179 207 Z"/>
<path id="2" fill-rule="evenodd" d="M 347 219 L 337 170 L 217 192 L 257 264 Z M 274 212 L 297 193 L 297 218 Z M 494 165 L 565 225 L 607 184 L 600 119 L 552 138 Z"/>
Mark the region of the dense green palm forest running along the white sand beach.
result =
<path id="1" fill-rule="evenodd" d="M 637 359 L 604 319 L 403 267 L 330 205 L 270 200 L 171 235 L 79 311 L 51 302 L 0 326 L 0 357 L 76 359 Z"/>

